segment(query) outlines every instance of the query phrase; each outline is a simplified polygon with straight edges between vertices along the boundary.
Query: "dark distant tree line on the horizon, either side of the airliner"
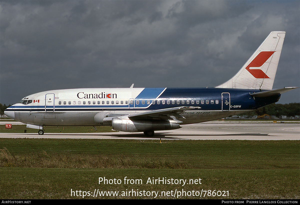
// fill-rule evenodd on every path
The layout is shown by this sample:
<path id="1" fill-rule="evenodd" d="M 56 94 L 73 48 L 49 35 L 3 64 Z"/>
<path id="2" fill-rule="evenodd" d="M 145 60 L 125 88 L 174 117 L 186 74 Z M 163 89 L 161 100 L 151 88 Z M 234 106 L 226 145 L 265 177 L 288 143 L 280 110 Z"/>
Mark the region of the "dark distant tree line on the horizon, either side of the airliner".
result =
<path id="1" fill-rule="evenodd" d="M 1 115 L 4 115 L 4 110 L 10 107 L 10 105 L 2 105 L 0 104 L 1 108 Z M 300 115 L 300 103 L 289 103 L 289 104 L 271 104 L 265 107 L 261 107 L 257 110 L 252 110 L 247 113 L 243 113 L 241 115 L 248 115 L 248 116 L 255 116 L 255 115 L 274 115 L 279 117 L 281 115 L 285 116 L 295 116 Z"/>

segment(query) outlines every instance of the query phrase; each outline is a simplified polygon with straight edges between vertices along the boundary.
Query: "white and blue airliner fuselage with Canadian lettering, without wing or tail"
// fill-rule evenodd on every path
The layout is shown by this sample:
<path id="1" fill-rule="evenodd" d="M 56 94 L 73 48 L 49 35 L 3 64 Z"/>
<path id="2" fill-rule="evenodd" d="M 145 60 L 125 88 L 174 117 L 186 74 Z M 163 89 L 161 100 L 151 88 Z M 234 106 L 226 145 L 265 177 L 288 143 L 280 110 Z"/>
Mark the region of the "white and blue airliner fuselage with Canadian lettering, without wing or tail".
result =
<path id="1" fill-rule="evenodd" d="M 29 95 L 7 108 L 11 118 L 43 126 L 96 126 L 99 112 L 143 113 L 193 107 L 180 113 L 181 124 L 221 119 L 277 102 L 280 94 L 263 102 L 251 93 L 259 90 L 224 88 L 103 88 L 52 90 Z M 155 117 L 147 117 L 153 120 Z"/>

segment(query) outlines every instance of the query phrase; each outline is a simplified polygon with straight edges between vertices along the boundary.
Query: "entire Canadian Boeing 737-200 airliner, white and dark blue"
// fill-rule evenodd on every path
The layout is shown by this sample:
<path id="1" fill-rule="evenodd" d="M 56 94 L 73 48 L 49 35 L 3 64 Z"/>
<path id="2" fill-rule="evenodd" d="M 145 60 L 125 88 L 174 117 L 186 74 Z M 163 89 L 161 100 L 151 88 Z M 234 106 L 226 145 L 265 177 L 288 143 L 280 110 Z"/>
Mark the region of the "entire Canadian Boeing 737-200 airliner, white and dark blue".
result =
<path id="1" fill-rule="evenodd" d="M 39 92 L 4 113 L 38 129 L 44 126 L 112 126 L 144 132 L 173 130 L 257 109 L 279 100 L 272 90 L 285 32 L 271 32 L 238 73 L 215 88 L 87 88 Z M 96 129 L 96 128 L 95 128 Z"/>

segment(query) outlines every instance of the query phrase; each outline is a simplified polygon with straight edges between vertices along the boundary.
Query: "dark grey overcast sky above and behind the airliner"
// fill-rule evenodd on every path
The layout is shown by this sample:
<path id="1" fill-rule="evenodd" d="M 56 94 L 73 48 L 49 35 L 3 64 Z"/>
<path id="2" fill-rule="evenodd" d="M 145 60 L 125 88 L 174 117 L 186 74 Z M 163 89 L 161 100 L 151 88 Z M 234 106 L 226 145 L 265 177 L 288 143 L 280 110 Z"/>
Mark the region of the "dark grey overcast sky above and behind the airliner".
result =
<path id="1" fill-rule="evenodd" d="M 214 87 L 286 31 L 273 89 L 300 86 L 300 2 L 0 0 L 0 102 L 70 88 Z M 300 102 L 300 89 L 279 103 Z"/>

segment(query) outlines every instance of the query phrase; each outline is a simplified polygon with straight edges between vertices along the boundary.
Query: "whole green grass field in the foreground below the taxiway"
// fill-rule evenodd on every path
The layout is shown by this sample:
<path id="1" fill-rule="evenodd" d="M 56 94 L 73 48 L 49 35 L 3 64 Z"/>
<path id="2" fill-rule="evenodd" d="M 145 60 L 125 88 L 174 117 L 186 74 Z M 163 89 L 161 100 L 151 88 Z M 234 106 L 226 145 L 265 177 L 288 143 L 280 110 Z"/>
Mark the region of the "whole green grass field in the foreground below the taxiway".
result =
<path id="1" fill-rule="evenodd" d="M 159 140 L 0 138 L 0 194 L 1 198 L 9 199 L 73 199 L 82 197 L 71 196 L 71 189 L 160 192 L 203 189 L 228 191 L 229 196 L 202 198 L 300 198 L 299 147 L 299 140 L 159 143 Z M 142 179 L 143 184 L 99 184 L 99 177 Z M 187 181 L 201 178 L 202 184 L 146 184 L 149 177 Z"/>

